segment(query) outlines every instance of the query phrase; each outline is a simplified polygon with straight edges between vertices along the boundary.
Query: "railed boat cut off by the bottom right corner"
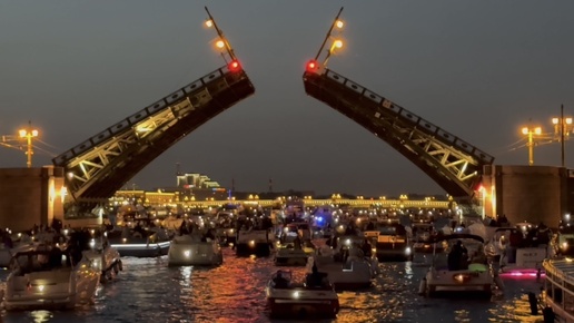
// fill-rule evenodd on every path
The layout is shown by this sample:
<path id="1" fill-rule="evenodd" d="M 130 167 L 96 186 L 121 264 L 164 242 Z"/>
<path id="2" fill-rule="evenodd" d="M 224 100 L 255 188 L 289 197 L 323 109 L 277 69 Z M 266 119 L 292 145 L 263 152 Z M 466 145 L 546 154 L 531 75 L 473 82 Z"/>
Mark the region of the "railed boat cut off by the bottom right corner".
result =
<path id="1" fill-rule="evenodd" d="M 542 300 L 546 309 L 544 322 L 574 323 L 574 262 L 571 258 L 546 260 L 542 264 L 546 272 Z M 548 310 L 550 309 L 550 310 Z M 558 316 L 558 317 L 555 317 Z"/>

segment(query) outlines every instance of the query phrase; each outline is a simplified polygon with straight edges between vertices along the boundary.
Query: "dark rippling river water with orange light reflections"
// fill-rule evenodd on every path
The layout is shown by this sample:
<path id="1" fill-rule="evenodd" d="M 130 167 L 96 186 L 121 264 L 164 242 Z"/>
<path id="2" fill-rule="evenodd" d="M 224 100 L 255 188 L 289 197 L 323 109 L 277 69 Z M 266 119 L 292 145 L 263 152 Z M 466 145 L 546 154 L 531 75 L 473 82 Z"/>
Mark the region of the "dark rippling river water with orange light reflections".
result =
<path id="1" fill-rule="evenodd" d="M 339 293 L 336 320 L 321 322 L 543 322 L 531 315 L 528 292 L 536 278 L 505 278 L 495 300 L 425 298 L 418 285 L 425 260 L 380 263 L 373 287 Z M 75 311 L 6 312 L 0 322 L 289 322 L 269 320 L 264 287 L 277 267 L 271 258 L 239 258 L 224 253 L 215 268 L 168 267 L 160 258 L 123 258 L 123 272 L 102 285 L 95 303 Z M 296 268 L 303 275 L 303 268 Z M 7 273 L 0 273 L 2 280 Z M 317 322 L 317 320 L 315 320 Z"/>

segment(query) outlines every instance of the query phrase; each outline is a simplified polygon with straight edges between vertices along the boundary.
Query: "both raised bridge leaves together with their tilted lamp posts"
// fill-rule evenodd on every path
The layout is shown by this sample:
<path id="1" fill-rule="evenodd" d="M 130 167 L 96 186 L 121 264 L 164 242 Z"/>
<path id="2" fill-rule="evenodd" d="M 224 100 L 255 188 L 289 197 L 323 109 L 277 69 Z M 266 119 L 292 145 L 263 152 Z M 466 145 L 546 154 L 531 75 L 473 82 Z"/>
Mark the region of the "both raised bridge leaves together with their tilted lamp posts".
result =
<path id="1" fill-rule="evenodd" d="M 209 12 L 208 12 L 209 13 Z M 339 11 L 340 14 L 340 11 Z M 326 41 L 338 17 L 333 22 Z M 209 14 L 211 18 L 211 16 Z M 214 22 L 215 23 L 215 22 Z M 107 127 L 53 158 L 75 205 L 107 202 L 156 157 L 209 119 L 255 92 L 228 41 L 228 65 Z M 326 41 L 319 49 L 323 50 Z M 326 68 L 317 57 L 303 75 L 305 91 L 369 130 L 455 198 L 472 198 L 494 157 L 384 96 Z"/>

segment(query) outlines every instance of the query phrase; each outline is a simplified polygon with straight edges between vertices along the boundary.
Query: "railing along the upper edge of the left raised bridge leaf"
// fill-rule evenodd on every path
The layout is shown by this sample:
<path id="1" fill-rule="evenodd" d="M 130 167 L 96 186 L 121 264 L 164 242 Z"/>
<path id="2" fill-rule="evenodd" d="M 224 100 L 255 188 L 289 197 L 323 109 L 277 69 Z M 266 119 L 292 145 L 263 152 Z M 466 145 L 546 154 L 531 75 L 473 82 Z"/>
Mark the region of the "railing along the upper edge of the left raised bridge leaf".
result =
<path id="1" fill-rule="evenodd" d="M 198 80 L 171 92 L 170 95 L 164 97 L 159 101 L 156 101 L 148 107 L 141 109 L 138 112 L 127 117 L 126 119 L 117 123 L 116 125 L 106 128 L 103 131 L 90 137 L 83 143 L 75 146 L 73 148 L 60 154 L 56 158 L 52 159 L 53 164 L 57 166 L 63 166 L 68 160 L 79 156 L 90 149 L 93 149 L 96 146 L 107 141 L 113 136 L 119 135 L 120 133 L 125 133 L 131 127 L 136 126 L 141 120 L 156 115 L 162 111 L 166 108 L 169 108 L 171 105 L 177 104 L 184 100 L 186 97 L 194 95 L 205 88 L 209 82 L 224 77 L 229 71 L 227 66 L 216 69 L 215 71 L 207 74 L 206 76 L 199 78 Z M 194 102 L 191 102 L 194 104 Z"/>

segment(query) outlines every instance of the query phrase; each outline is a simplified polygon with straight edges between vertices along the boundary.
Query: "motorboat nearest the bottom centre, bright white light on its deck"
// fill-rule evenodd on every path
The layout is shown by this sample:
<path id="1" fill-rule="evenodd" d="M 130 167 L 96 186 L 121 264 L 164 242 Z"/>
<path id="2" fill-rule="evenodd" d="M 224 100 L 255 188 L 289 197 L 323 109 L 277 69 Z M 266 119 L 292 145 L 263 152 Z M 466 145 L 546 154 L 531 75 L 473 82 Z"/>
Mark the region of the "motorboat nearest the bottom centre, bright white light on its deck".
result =
<path id="1" fill-rule="evenodd" d="M 273 317 L 334 319 L 339 298 L 325 273 L 308 274 L 305 282 L 293 281 L 290 271 L 277 271 L 265 288 Z"/>

